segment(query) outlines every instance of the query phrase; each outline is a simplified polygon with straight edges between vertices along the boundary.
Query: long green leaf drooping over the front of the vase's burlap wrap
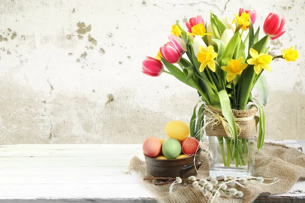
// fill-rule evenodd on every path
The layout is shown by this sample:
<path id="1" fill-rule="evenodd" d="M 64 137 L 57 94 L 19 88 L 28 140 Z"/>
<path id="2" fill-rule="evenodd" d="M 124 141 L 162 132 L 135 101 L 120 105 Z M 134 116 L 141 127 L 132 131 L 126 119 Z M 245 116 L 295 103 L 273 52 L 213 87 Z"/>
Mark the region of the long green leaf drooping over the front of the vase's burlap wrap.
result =
<path id="1" fill-rule="evenodd" d="M 233 136 L 233 141 L 234 141 L 234 147 L 237 148 L 238 147 L 238 137 L 237 137 L 238 135 L 237 135 L 236 123 L 235 123 L 234 116 L 233 116 L 232 110 L 231 110 L 230 98 L 225 89 L 218 92 L 218 96 L 219 96 L 220 104 L 221 104 L 221 112 L 230 125 L 230 128 L 233 133 L 232 136 Z"/>

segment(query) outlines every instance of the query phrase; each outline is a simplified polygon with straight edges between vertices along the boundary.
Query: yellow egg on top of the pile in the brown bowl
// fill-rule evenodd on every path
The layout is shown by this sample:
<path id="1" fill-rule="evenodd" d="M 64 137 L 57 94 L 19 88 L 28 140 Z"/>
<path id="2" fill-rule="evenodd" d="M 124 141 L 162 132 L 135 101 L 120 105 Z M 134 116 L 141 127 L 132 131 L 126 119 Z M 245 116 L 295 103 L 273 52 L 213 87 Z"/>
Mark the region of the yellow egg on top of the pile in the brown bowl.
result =
<path id="1" fill-rule="evenodd" d="M 189 136 L 190 128 L 182 121 L 170 121 L 165 126 L 165 132 L 168 137 L 183 141 Z"/>

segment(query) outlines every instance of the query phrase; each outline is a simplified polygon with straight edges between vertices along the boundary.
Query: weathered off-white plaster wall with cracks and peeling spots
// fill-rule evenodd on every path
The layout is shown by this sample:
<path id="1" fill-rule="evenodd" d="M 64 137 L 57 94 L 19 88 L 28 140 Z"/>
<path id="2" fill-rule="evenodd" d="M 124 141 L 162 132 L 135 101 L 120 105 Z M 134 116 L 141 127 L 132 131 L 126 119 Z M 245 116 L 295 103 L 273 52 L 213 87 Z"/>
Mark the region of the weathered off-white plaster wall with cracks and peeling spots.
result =
<path id="1" fill-rule="evenodd" d="M 239 7 L 257 10 L 256 28 L 269 12 L 288 19 L 270 53 L 296 45 L 300 59 L 274 61 L 272 72 L 264 73 L 271 90 L 266 138 L 303 140 L 303 0 L 23 0 L 0 4 L 0 144 L 166 138 L 165 124 L 189 122 L 198 98 L 168 75 L 141 74 L 142 60 L 168 41 L 176 20 L 208 20 L 210 10 L 233 19 Z"/>

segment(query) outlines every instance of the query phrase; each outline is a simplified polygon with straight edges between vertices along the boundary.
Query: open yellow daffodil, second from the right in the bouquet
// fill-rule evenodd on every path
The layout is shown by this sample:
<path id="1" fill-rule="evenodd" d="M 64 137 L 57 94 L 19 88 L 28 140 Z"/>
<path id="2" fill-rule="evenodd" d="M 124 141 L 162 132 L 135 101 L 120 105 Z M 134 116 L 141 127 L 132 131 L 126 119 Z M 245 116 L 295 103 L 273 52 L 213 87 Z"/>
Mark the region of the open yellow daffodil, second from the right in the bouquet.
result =
<path id="1" fill-rule="evenodd" d="M 271 71 L 269 63 L 272 61 L 272 56 L 264 53 L 258 54 L 254 49 L 250 49 L 250 55 L 252 58 L 248 59 L 247 62 L 250 65 L 254 65 L 254 71 L 258 75 L 265 69 L 266 71 Z"/>

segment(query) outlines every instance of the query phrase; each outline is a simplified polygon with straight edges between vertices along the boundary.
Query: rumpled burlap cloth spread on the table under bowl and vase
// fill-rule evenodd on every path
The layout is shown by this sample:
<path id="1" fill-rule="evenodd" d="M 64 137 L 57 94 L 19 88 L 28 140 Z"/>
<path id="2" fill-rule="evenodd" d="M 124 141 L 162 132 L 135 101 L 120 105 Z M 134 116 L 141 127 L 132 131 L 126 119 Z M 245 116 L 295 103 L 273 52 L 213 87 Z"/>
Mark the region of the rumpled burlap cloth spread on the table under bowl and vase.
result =
<path id="1" fill-rule="evenodd" d="M 201 158 L 204 161 L 199 168 L 197 178 L 206 178 L 209 175 L 208 160 L 204 152 Z M 305 155 L 298 149 L 288 148 L 284 145 L 264 144 L 263 148 L 255 156 L 255 170 L 253 176 L 263 178 L 279 178 L 280 181 L 273 185 L 249 183 L 247 188 L 238 188 L 242 190 L 242 198 L 215 198 L 214 202 L 253 202 L 261 193 L 272 195 L 288 192 L 297 180 L 305 179 Z M 138 157 L 133 157 L 129 168 L 132 172 L 139 174 L 140 178 L 151 177 L 145 161 Z M 254 181 L 255 182 L 255 181 Z M 169 193 L 170 185 L 154 185 L 154 181 L 143 181 L 143 185 L 156 196 L 160 202 L 207 202 L 209 196 L 203 196 L 198 188 L 191 185 L 182 186 L 176 184 L 172 194 Z"/>

